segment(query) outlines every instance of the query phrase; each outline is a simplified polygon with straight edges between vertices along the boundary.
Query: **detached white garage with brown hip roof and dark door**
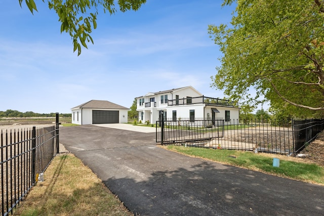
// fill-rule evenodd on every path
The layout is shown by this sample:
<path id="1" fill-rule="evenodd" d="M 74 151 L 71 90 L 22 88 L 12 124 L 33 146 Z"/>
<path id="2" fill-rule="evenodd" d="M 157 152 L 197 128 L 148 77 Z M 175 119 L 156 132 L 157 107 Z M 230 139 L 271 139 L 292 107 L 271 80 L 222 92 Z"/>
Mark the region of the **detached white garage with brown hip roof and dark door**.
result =
<path id="1" fill-rule="evenodd" d="M 71 108 L 74 124 L 127 123 L 129 108 L 109 101 L 91 100 Z"/>

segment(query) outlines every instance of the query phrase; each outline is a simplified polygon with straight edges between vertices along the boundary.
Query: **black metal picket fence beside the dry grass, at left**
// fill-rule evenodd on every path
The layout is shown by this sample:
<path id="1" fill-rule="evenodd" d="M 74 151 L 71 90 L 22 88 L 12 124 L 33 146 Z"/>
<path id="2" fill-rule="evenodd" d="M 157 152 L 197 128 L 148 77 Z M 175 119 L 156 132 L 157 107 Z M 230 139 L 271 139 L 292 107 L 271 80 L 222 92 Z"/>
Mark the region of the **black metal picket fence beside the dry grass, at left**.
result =
<path id="1" fill-rule="evenodd" d="M 1 212 L 8 215 L 59 153 L 59 122 L 44 127 L 1 130 Z"/>

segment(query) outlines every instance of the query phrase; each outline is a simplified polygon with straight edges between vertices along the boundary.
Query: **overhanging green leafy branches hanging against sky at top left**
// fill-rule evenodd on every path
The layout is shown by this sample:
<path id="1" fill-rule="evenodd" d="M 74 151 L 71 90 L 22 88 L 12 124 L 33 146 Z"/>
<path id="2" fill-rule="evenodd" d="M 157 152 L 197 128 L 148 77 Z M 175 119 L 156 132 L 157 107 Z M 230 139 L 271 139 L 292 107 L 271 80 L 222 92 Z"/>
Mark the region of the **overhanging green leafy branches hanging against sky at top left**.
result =
<path id="1" fill-rule="evenodd" d="M 23 0 L 18 0 L 22 6 Z M 97 28 L 97 15 L 99 9 L 108 12 L 110 15 L 117 12 L 115 3 L 118 4 L 121 12 L 129 10 L 137 11 L 146 0 L 42 0 L 47 3 L 51 10 L 54 10 L 61 22 L 61 33 L 67 32 L 73 40 L 73 52 L 81 54 L 81 45 L 88 48 L 87 43 L 93 44 L 90 36 L 93 29 Z M 33 14 L 37 11 L 34 0 L 24 1 Z"/>

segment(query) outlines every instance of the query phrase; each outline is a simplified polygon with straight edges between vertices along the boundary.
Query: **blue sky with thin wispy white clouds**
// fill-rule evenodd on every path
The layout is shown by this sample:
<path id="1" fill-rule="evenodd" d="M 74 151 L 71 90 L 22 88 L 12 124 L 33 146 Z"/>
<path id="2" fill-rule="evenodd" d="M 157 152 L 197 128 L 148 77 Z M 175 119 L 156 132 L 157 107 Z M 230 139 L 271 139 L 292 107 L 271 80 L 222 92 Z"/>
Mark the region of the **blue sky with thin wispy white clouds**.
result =
<path id="1" fill-rule="evenodd" d="M 2 0 L 0 110 L 70 113 L 92 99 L 130 107 L 135 97 L 191 85 L 208 97 L 222 55 L 209 24 L 229 23 L 234 7 L 222 1 L 147 0 L 137 12 L 100 13 L 94 45 L 73 53 L 57 15 L 35 1 L 30 13 Z"/>

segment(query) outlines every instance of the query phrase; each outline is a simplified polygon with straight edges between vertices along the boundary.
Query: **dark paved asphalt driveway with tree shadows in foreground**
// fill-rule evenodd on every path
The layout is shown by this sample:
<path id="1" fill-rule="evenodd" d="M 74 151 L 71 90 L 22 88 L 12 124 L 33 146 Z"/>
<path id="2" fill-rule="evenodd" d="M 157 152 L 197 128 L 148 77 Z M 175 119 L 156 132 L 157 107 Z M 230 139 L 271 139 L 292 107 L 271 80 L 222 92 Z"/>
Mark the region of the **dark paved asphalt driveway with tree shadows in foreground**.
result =
<path id="1" fill-rule="evenodd" d="M 60 127 L 60 142 L 135 214 L 324 214 L 323 186 L 170 152 L 155 133 Z"/>

